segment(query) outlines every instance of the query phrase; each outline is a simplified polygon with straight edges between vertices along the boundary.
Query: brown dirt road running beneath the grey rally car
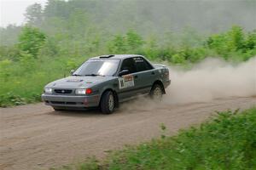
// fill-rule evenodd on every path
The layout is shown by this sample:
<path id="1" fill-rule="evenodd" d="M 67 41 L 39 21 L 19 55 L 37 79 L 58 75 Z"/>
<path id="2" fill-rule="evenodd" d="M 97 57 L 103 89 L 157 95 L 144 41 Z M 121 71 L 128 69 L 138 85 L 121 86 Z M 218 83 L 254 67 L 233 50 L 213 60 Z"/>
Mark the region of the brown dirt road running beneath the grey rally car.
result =
<path id="1" fill-rule="evenodd" d="M 204 121 L 213 111 L 246 109 L 256 98 L 216 99 L 189 105 L 126 104 L 112 115 L 98 111 L 55 112 L 40 103 L 0 109 L 0 169 L 48 169 L 107 150 L 137 144 Z"/>

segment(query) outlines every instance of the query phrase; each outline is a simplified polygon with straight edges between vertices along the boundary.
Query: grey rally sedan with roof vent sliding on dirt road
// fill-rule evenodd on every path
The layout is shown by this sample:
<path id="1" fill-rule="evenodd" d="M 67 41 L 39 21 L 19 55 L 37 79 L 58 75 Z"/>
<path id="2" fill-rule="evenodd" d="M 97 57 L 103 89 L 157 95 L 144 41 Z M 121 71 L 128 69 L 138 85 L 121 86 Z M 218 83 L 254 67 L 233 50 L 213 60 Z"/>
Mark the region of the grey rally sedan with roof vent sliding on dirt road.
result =
<path id="1" fill-rule="evenodd" d="M 70 77 L 49 82 L 42 99 L 55 111 L 99 107 L 110 114 L 138 95 L 160 100 L 170 83 L 168 68 L 152 65 L 142 55 L 102 55 L 85 61 Z"/>

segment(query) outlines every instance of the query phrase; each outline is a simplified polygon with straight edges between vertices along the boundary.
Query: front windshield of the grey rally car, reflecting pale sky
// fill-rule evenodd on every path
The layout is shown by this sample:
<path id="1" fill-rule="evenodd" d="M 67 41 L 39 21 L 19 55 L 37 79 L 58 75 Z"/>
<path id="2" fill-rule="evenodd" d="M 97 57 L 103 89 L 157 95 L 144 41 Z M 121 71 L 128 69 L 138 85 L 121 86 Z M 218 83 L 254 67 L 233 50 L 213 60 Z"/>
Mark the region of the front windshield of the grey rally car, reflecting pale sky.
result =
<path id="1" fill-rule="evenodd" d="M 119 59 L 88 60 L 74 71 L 73 76 L 113 76 L 119 66 Z"/>

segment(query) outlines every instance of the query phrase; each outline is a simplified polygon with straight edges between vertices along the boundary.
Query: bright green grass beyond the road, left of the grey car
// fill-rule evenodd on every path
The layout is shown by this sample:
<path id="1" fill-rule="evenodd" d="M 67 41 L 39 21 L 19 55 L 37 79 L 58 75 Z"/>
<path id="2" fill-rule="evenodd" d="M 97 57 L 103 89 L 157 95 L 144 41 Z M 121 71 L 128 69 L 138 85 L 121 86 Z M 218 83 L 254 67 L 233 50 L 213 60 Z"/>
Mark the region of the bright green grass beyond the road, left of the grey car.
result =
<path id="1" fill-rule="evenodd" d="M 41 94 L 47 83 L 64 75 L 69 76 L 69 71 L 84 60 L 83 58 L 68 59 L 68 57 L 52 59 L 44 56 L 39 61 L 27 59 L 23 63 L 9 63 L 12 66 L 0 72 L 0 107 L 41 101 Z"/>

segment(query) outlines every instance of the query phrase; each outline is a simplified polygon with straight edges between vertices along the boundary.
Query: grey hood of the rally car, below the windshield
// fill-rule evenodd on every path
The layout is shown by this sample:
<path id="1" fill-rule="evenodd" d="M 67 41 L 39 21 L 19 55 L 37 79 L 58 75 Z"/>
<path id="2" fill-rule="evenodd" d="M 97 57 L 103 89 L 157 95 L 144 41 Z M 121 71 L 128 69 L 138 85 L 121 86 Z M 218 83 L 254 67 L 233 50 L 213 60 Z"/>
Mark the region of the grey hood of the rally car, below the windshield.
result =
<path id="1" fill-rule="evenodd" d="M 98 83 L 106 82 L 114 77 L 66 77 L 50 82 L 47 88 L 90 88 Z"/>

